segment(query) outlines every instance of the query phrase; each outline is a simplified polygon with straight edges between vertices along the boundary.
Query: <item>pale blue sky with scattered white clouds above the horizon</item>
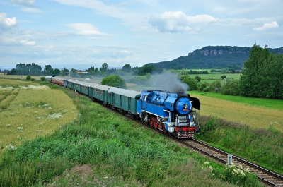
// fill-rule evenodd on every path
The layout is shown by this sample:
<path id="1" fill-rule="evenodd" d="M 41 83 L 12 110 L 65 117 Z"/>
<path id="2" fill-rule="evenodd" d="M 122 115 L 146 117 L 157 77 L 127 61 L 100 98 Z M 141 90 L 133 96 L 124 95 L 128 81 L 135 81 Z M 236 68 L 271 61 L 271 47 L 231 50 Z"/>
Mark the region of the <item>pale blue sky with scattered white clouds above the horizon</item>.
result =
<path id="1" fill-rule="evenodd" d="M 282 0 L 0 0 L 0 69 L 171 61 L 206 46 L 283 47 Z"/>

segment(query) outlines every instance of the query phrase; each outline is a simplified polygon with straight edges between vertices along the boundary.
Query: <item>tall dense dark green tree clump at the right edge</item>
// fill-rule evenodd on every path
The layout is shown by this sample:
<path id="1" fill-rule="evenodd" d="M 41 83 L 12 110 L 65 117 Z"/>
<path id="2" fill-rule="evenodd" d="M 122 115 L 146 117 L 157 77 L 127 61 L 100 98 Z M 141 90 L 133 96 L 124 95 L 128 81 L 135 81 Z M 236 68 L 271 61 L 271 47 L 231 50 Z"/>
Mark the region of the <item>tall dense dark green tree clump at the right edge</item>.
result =
<path id="1" fill-rule="evenodd" d="M 283 99 L 282 66 L 282 54 L 270 54 L 267 45 L 263 49 L 254 44 L 242 71 L 241 95 Z"/>

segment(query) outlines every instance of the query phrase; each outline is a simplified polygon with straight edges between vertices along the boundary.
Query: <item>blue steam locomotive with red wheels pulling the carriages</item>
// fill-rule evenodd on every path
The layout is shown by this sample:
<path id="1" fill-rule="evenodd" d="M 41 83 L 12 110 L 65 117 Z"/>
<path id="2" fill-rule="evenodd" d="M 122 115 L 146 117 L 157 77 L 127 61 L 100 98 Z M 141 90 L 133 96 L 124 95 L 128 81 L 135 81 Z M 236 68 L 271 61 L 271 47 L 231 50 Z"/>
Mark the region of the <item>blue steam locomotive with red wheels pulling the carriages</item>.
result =
<path id="1" fill-rule="evenodd" d="M 137 114 L 141 121 L 176 138 L 193 138 L 199 131 L 197 113 L 200 101 L 187 93 L 163 90 L 142 90 L 137 100 Z"/>

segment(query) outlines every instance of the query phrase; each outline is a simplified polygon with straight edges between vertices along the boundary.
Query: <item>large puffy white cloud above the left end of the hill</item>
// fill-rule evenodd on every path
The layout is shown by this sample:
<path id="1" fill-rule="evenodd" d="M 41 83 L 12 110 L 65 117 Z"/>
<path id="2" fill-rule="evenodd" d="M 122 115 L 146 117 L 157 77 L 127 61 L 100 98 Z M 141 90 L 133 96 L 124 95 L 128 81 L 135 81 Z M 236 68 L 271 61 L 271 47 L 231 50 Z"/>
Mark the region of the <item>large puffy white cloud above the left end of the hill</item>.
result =
<path id="1" fill-rule="evenodd" d="M 197 24 L 197 28 L 200 28 L 200 25 L 215 21 L 216 18 L 209 15 L 187 16 L 180 11 L 154 14 L 149 18 L 149 23 L 160 32 L 184 32 L 195 29 L 195 24 Z"/>

